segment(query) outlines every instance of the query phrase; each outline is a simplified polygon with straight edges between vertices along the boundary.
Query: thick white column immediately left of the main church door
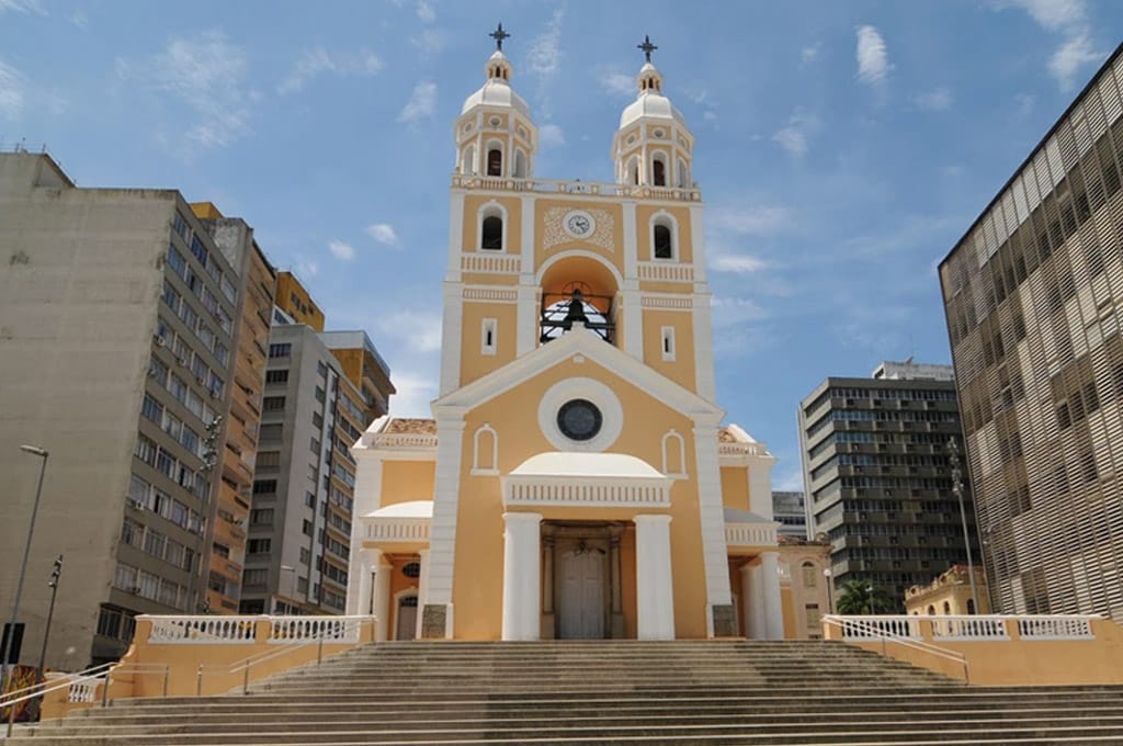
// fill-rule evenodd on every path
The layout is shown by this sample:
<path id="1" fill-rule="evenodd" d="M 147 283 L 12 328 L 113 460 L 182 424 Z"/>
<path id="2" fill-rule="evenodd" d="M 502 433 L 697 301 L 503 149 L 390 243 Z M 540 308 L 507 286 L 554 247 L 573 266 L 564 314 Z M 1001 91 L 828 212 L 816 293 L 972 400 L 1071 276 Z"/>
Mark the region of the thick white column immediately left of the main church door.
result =
<path id="1" fill-rule="evenodd" d="M 503 513 L 503 639 L 538 639 L 540 629 L 540 513 Z"/>

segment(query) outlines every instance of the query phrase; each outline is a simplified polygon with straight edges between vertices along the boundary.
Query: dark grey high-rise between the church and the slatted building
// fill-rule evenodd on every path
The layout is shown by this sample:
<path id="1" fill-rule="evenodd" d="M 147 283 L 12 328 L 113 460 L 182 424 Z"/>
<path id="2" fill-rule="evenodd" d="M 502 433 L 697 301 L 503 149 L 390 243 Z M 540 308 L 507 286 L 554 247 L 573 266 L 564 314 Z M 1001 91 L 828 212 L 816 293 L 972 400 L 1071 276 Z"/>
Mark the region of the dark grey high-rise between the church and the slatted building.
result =
<path id="1" fill-rule="evenodd" d="M 905 589 L 966 560 L 948 460 L 959 410 L 950 366 L 877 372 L 829 377 L 800 406 L 807 531 L 827 534 L 836 586 L 868 581 L 904 608 Z"/>

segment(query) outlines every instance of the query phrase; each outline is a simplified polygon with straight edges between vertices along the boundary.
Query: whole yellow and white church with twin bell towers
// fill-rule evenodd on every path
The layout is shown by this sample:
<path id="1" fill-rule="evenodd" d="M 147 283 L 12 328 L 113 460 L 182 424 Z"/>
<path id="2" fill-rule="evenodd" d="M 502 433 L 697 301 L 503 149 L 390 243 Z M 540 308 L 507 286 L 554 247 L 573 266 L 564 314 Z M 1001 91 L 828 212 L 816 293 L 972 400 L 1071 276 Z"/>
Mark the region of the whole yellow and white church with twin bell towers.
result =
<path id="1" fill-rule="evenodd" d="M 615 182 L 535 174 L 505 35 L 456 120 L 440 392 L 355 444 L 378 637 L 784 636 L 764 444 L 714 402 L 694 136 L 650 62 Z"/>

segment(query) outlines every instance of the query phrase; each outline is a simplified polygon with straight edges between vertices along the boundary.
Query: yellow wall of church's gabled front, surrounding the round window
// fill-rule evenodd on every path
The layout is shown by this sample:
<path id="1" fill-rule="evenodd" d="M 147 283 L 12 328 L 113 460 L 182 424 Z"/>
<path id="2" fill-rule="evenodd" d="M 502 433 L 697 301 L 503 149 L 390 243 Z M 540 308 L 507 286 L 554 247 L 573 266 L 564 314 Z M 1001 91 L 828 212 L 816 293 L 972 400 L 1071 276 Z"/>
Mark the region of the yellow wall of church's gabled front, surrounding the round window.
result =
<path id="1" fill-rule="evenodd" d="M 457 517 L 456 565 L 454 576 L 455 633 L 457 638 L 497 639 L 502 630 L 503 512 L 500 480 L 496 476 L 473 476 L 473 435 L 485 422 L 499 434 L 499 471 L 510 473 L 527 458 L 553 452 L 554 446 L 538 427 L 538 402 L 558 381 L 587 376 L 613 390 L 626 412 L 620 438 L 609 451 L 627 453 L 661 468 L 663 435 L 675 428 L 685 440 L 686 467 L 690 480 L 678 480 L 672 486 L 670 542 L 677 637 L 706 636 L 705 576 L 702 560 L 702 527 L 699 518 L 697 474 L 694 462 L 693 421 L 672 410 L 661 401 L 637 389 L 632 383 L 602 366 L 572 360 L 555 365 L 523 382 L 515 389 L 469 411 L 465 417 L 464 458 L 462 461 L 460 498 Z M 529 413 L 529 416 L 528 416 Z M 547 520 L 629 520 L 638 512 L 632 508 L 541 507 L 517 508 L 540 512 Z M 631 561 L 632 563 L 634 560 Z M 630 579 L 634 573 L 624 574 Z M 634 590 L 629 591 L 634 594 Z M 634 601 L 629 601 L 634 608 Z M 627 611 L 626 615 L 633 611 Z M 634 629 L 634 619 L 626 619 Z"/>

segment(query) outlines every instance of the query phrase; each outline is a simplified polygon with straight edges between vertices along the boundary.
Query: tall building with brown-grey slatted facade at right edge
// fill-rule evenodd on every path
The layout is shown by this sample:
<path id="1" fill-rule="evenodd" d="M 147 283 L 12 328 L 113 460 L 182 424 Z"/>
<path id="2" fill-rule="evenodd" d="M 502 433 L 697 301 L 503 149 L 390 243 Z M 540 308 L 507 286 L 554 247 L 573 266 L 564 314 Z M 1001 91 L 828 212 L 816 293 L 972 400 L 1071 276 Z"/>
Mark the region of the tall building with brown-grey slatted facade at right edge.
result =
<path id="1" fill-rule="evenodd" d="M 940 264 L 1004 613 L 1123 620 L 1121 52 Z"/>

